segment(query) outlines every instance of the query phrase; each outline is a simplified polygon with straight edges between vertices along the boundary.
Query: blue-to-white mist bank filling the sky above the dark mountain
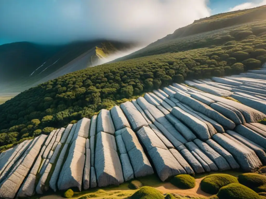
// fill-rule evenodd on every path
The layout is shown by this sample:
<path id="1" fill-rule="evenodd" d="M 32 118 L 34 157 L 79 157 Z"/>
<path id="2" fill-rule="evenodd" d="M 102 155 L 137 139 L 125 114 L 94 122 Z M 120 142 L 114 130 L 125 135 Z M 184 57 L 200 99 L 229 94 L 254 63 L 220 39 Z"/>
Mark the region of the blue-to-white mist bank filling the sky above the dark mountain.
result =
<path id="1" fill-rule="evenodd" d="M 110 39 L 149 44 L 210 16 L 208 0 L 0 1 L 0 38 L 63 44 Z"/>

